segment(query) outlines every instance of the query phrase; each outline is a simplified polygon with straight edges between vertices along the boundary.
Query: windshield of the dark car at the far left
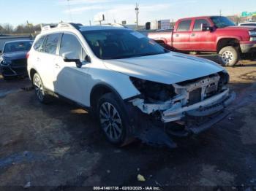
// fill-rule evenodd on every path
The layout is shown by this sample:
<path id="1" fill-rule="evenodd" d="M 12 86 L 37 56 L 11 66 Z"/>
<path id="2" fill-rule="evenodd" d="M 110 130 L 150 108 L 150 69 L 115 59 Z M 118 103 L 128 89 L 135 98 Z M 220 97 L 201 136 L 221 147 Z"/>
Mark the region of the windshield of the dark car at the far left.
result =
<path id="1" fill-rule="evenodd" d="M 9 52 L 29 51 L 32 44 L 33 43 L 31 41 L 7 42 L 4 46 L 3 52 L 9 53 Z"/>

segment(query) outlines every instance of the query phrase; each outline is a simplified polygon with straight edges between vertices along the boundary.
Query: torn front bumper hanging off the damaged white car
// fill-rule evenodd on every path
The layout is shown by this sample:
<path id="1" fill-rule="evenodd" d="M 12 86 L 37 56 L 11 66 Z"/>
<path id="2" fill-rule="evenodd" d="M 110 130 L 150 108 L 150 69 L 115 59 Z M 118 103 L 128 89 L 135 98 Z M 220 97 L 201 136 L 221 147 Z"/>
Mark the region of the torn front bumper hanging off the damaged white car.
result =
<path id="1" fill-rule="evenodd" d="M 177 109 L 168 109 L 162 112 L 162 120 L 158 122 L 152 120 L 152 117 L 148 114 L 130 106 L 129 108 L 135 115 L 135 118 L 132 119 L 135 136 L 146 144 L 176 148 L 177 144 L 170 135 L 189 136 L 208 130 L 230 114 L 225 108 L 235 98 L 236 93 L 230 93 L 227 89 L 200 103 Z M 172 130 L 173 126 L 177 124 L 182 126 L 182 130 L 178 130 L 178 133 Z"/>

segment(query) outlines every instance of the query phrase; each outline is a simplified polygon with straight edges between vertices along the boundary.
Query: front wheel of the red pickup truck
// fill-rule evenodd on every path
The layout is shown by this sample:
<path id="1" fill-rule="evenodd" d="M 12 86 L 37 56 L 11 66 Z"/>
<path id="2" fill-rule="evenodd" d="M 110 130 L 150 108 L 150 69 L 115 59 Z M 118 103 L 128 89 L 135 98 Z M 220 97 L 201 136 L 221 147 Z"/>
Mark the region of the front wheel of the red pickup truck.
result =
<path id="1" fill-rule="evenodd" d="M 236 47 L 223 47 L 219 51 L 219 62 L 222 66 L 235 66 L 239 60 L 239 52 Z"/>

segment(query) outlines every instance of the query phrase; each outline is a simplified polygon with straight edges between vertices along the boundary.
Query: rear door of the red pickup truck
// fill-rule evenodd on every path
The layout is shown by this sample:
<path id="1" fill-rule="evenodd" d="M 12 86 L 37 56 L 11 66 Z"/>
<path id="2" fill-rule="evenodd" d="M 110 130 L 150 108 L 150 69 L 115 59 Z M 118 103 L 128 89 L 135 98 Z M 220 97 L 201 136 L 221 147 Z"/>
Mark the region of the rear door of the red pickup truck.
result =
<path id="1" fill-rule="evenodd" d="M 177 50 L 190 50 L 190 26 L 192 20 L 181 20 L 173 31 L 173 47 Z"/>

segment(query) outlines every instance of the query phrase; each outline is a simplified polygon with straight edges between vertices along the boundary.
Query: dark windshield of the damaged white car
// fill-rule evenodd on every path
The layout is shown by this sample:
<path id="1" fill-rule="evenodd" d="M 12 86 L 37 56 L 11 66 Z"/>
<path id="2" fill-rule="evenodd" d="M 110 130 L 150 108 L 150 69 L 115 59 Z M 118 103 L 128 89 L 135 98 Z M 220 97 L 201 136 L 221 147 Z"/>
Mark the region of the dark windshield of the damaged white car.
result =
<path id="1" fill-rule="evenodd" d="M 82 31 L 82 34 L 94 55 L 103 60 L 169 52 L 143 34 L 128 29 Z"/>

